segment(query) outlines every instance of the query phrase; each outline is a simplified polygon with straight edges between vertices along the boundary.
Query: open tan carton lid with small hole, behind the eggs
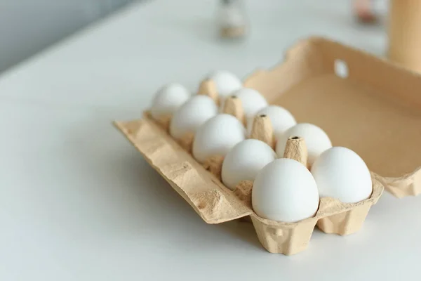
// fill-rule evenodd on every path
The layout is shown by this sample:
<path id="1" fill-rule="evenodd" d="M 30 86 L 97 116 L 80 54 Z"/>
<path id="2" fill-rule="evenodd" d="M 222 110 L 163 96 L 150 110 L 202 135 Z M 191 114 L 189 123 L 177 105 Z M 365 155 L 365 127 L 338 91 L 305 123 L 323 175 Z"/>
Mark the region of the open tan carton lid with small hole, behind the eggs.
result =
<path id="1" fill-rule="evenodd" d="M 320 126 L 358 153 L 396 197 L 421 192 L 421 76 L 321 38 L 300 41 L 285 62 L 244 85 L 297 122 Z"/>

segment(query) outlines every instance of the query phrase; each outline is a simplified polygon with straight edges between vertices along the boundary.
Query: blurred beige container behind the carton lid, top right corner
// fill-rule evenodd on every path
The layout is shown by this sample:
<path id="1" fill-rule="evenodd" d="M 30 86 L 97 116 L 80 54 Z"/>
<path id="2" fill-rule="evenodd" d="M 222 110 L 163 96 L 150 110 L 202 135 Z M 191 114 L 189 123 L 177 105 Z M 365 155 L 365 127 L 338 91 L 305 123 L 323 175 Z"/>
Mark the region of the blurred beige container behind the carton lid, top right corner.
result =
<path id="1" fill-rule="evenodd" d="M 421 72 L 421 1 L 391 0 L 389 59 Z"/>

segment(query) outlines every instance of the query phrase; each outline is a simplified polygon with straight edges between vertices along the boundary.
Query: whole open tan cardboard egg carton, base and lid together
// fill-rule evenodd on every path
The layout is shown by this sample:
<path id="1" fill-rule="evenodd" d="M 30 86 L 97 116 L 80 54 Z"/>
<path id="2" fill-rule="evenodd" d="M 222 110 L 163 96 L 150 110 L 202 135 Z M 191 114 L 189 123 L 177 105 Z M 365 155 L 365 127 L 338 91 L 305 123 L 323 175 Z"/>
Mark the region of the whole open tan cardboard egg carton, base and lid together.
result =
<path id="1" fill-rule="evenodd" d="M 359 230 L 382 185 L 397 197 L 421 192 L 421 77 L 362 51 L 310 38 L 291 48 L 284 63 L 253 72 L 243 84 L 270 104 L 286 107 L 298 122 L 323 128 L 334 145 L 358 153 L 372 171 L 373 193 L 355 204 L 321 198 L 316 215 L 298 223 L 265 220 L 250 207 L 250 183 L 234 192 L 226 188 L 218 178 L 222 159 L 209 159 L 204 166 L 196 162 L 189 153 L 192 136 L 173 140 L 168 118 L 156 121 L 145 112 L 140 120 L 115 122 L 206 223 L 250 216 L 268 251 L 295 254 L 307 247 L 314 226 L 339 235 Z M 218 98 L 212 81 L 204 81 L 199 93 Z M 238 107 L 231 110 L 241 115 Z"/>

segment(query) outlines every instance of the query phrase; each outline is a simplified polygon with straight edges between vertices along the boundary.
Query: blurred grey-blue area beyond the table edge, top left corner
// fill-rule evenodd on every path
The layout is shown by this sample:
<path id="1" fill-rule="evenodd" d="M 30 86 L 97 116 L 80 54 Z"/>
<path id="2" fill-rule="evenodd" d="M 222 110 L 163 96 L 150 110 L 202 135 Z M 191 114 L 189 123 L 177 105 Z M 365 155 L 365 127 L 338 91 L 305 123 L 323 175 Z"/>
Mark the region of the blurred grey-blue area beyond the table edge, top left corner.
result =
<path id="1" fill-rule="evenodd" d="M 134 1 L 0 0 L 0 72 Z"/>

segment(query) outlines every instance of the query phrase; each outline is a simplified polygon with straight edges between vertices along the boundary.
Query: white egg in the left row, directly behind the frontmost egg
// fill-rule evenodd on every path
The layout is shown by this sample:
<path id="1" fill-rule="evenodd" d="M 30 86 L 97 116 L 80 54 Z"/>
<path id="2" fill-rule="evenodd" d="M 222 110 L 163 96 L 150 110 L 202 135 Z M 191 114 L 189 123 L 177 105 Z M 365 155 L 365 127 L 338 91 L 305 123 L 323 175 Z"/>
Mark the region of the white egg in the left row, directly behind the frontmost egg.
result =
<path id="1" fill-rule="evenodd" d="M 222 163 L 222 183 L 234 190 L 240 181 L 254 181 L 258 171 L 274 161 L 274 150 L 258 140 L 245 140 L 228 152 Z"/>

